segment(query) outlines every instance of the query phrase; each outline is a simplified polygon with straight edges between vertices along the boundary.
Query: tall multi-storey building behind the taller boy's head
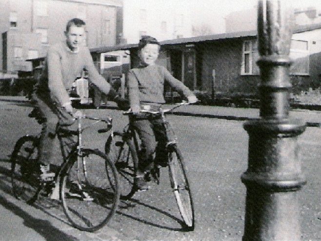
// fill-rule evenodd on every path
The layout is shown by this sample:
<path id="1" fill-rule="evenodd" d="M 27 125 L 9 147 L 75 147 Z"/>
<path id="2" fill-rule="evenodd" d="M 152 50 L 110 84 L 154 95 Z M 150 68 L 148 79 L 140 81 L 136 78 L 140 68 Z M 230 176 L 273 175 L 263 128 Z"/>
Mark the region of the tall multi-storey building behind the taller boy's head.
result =
<path id="1" fill-rule="evenodd" d="M 43 57 L 63 40 L 68 20 L 86 22 L 90 48 L 119 42 L 122 0 L 1 0 L 0 72 L 32 71 L 28 59 Z"/>

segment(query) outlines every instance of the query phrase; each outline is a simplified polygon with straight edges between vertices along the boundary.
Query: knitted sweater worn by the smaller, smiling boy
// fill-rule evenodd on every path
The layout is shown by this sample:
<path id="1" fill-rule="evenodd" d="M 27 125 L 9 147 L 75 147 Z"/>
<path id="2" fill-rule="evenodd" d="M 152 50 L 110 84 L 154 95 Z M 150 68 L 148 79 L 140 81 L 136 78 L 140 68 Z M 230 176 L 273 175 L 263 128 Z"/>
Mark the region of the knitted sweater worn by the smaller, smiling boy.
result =
<path id="1" fill-rule="evenodd" d="M 131 69 L 127 75 L 130 106 L 137 106 L 141 102 L 165 103 L 163 96 L 165 81 L 185 97 L 194 95 L 180 80 L 175 79 L 165 67 L 160 65 L 140 66 Z"/>

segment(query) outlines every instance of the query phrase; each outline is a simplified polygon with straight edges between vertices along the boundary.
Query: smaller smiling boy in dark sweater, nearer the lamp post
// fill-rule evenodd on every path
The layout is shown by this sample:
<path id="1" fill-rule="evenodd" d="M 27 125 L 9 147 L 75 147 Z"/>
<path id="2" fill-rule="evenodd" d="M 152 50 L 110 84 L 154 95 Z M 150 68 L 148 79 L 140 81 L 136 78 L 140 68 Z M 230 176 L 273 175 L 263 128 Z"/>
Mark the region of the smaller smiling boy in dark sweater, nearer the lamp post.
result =
<path id="1" fill-rule="evenodd" d="M 140 163 L 135 185 L 138 190 L 147 190 L 147 173 L 153 165 L 165 166 L 166 133 L 160 116 L 140 113 L 140 110 L 158 111 L 163 103 L 164 82 L 175 88 L 190 103 L 198 101 L 196 96 L 180 80 L 175 79 L 163 66 L 156 65 L 160 43 L 153 37 L 145 36 L 139 42 L 140 65 L 128 72 L 127 88 L 131 111 L 130 118 L 141 140 Z M 155 153 L 156 156 L 155 156 Z M 157 160 L 154 160 L 155 157 Z"/>

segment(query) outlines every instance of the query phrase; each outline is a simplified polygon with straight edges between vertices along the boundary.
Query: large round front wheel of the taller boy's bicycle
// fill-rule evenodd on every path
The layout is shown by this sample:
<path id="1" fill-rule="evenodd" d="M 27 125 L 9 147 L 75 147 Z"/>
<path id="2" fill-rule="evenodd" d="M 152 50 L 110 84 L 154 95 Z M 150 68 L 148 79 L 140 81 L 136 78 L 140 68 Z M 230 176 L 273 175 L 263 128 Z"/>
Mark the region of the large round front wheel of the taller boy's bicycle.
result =
<path id="1" fill-rule="evenodd" d="M 77 160 L 75 155 L 67 165 L 60 196 L 63 210 L 74 227 L 98 230 L 115 214 L 120 199 L 114 164 L 98 150 L 82 150 L 81 157 Z"/>

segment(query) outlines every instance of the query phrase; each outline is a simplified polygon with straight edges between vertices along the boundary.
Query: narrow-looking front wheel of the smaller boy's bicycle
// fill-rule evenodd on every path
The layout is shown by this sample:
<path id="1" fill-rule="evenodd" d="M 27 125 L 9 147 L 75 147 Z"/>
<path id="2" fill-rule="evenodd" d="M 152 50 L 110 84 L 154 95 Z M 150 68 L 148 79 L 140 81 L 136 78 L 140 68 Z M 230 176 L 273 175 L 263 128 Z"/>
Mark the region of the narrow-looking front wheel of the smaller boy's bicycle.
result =
<path id="1" fill-rule="evenodd" d="M 181 151 L 176 145 L 170 147 L 169 157 L 169 178 L 173 188 L 175 199 L 181 213 L 181 217 L 188 230 L 194 230 L 194 206 L 192 193 L 188 184 L 185 163 Z"/>

